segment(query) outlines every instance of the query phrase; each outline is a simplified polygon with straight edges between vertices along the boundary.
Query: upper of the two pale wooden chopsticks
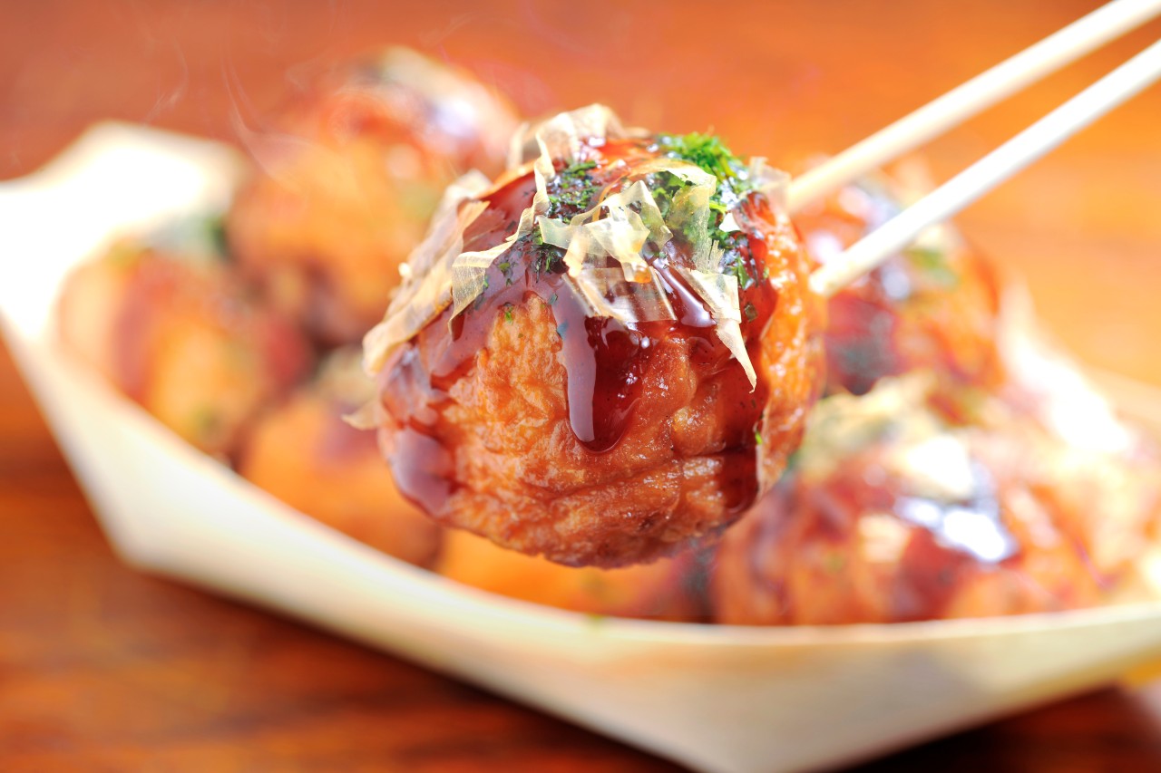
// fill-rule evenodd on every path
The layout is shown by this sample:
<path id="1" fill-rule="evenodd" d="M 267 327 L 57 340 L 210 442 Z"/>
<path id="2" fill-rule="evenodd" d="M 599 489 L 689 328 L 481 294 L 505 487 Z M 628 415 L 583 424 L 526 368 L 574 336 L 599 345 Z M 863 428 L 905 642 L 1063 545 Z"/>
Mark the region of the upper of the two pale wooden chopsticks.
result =
<path id="1" fill-rule="evenodd" d="M 1161 0 L 1113 0 L 791 181 L 791 212 L 939 136 L 1161 15 Z"/>

